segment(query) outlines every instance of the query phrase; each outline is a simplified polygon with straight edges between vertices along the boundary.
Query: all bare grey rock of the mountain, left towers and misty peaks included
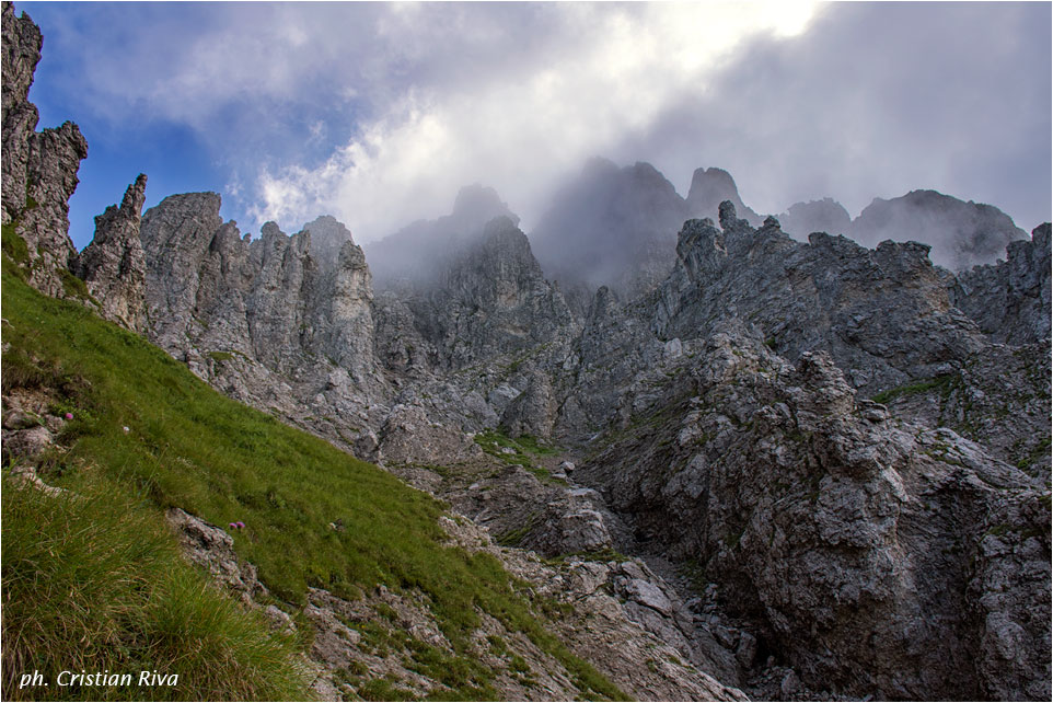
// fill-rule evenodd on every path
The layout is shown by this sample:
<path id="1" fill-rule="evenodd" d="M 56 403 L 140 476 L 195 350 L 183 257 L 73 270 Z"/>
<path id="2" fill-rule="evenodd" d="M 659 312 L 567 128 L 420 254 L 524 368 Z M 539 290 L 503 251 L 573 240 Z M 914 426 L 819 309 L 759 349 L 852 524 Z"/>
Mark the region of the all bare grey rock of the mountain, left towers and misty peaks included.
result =
<path id="1" fill-rule="evenodd" d="M 956 275 L 925 243 L 795 241 L 717 169 L 685 200 L 648 164 L 598 160 L 533 242 L 496 193 L 465 188 L 450 216 L 375 250 L 375 297 L 332 217 L 253 239 L 197 193 L 140 219 L 144 176 L 74 257 L 66 207 L 86 147 L 69 124 L 33 131 L 39 47 L 4 4 L 3 247 L 19 273 L 69 295 L 72 265 L 105 314 L 215 388 L 471 518 L 440 518 L 451 544 L 558 603 L 552 626 L 627 693 L 1050 699 L 1048 224 Z M 986 206 L 890 203 L 859 219 L 891 239 L 957 232 L 945 251 L 985 262 L 1016 238 Z M 836 224 L 834 206 L 797 215 Z M 61 430 L 37 395 L 4 397 L 4 459 L 34 483 Z M 259 604 L 229 535 L 170 519 Z M 350 695 L 352 668 L 449 692 L 347 625 L 394 612 L 449 652 L 412 593 L 308 600 L 321 696 Z M 479 632 L 486 662 L 507 669 L 493 634 L 543 672 L 505 677 L 502 695 L 587 693 L 521 633 Z"/>

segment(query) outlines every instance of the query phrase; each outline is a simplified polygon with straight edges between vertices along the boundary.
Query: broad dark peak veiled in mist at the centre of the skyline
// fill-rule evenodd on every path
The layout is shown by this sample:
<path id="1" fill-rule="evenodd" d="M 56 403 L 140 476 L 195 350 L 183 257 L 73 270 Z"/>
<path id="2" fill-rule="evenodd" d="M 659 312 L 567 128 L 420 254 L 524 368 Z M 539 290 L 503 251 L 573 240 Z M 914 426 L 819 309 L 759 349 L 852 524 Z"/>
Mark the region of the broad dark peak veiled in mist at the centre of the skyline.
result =
<path id="1" fill-rule="evenodd" d="M 672 266 L 672 246 L 687 207 L 649 163 L 618 169 L 590 161 L 530 233 L 537 261 L 565 289 L 586 296 L 608 286 L 633 297 Z"/>

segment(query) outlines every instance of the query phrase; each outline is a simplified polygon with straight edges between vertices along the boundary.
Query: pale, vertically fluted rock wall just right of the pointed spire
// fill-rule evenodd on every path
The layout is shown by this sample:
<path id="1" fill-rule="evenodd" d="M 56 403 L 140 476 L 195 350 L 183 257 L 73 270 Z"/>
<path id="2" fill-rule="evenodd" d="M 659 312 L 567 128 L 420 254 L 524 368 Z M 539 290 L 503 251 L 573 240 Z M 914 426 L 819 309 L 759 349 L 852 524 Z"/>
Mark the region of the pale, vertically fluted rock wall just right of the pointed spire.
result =
<path id="1" fill-rule="evenodd" d="M 267 223 L 250 241 L 219 208 L 188 194 L 143 216 L 151 338 L 228 394 L 352 446 L 385 394 L 361 250 L 339 226 L 320 264 L 310 229 Z"/>

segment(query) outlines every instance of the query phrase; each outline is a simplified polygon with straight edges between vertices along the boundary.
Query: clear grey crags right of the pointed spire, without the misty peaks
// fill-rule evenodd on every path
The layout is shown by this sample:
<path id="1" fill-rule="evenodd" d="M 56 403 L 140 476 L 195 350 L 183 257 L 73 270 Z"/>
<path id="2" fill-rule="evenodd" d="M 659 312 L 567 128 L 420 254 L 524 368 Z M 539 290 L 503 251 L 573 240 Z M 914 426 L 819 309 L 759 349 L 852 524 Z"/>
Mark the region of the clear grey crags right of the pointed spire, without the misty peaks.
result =
<path id="1" fill-rule="evenodd" d="M 142 227 L 163 284 L 151 334 L 501 540 L 698 564 L 705 598 L 652 571 L 601 581 L 721 681 L 1046 695 L 1049 629 L 1025 613 L 1049 592 L 1048 342 L 993 342 L 927 246 L 806 244 L 725 201 L 719 229 L 683 227 L 661 286 L 626 301 L 600 288 L 576 315 L 508 218 L 373 300 L 349 237 L 326 274 L 306 230 L 247 242 L 218 196 L 162 206 Z M 1042 255 L 1012 261 L 1031 280 Z M 1039 293 L 1028 304 L 1048 310 Z M 578 469 L 495 466 L 473 441 L 495 428 L 576 448 Z"/>

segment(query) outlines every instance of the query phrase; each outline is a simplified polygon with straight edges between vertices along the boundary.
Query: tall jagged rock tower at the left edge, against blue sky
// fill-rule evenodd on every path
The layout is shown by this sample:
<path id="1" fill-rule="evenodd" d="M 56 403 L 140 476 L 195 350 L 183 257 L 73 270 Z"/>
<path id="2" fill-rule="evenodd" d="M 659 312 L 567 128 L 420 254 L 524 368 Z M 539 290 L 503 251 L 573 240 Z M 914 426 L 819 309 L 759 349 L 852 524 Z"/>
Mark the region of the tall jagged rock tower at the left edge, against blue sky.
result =
<path id="1" fill-rule="evenodd" d="M 2 221 L 24 242 L 23 247 L 4 235 L 4 246 L 25 266 L 32 286 L 49 296 L 73 295 L 68 269 L 77 250 L 68 234 L 69 198 L 88 142 L 70 122 L 36 131 L 39 113 L 28 93 L 43 37 L 28 15 L 15 16 L 10 2 L 3 3 L 2 27 Z"/>

